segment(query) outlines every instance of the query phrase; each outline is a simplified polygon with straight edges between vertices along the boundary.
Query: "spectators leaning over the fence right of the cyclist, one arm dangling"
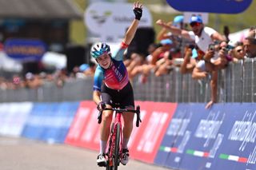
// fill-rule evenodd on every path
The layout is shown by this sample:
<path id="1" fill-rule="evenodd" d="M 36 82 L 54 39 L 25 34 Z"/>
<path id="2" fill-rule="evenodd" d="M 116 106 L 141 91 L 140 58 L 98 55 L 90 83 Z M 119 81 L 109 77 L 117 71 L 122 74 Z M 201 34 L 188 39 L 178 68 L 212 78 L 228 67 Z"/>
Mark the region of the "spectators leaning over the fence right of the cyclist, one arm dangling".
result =
<path id="1" fill-rule="evenodd" d="M 157 36 L 160 43 L 149 46 L 149 56 L 138 57 L 138 64 L 128 69 L 130 77 L 140 74 L 142 83 L 145 83 L 150 72 L 158 77 L 179 67 L 180 73 L 190 73 L 195 80 L 207 78 L 211 97 L 206 109 L 217 102 L 218 70 L 226 69 L 230 62 L 256 57 L 255 27 L 251 27 L 246 38 L 239 42 L 229 39 L 227 26 L 220 34 L 205 26 L 201 16 L 190 18 L 190 30 L 183 23 L 183 16 L 177 16 L 172 22 L 159 19 L 156 24 L 162 26 Z M 132 56 L 139 54 L 133 53 Z M 135 58 L 130 58 L 128 68 Z"/>

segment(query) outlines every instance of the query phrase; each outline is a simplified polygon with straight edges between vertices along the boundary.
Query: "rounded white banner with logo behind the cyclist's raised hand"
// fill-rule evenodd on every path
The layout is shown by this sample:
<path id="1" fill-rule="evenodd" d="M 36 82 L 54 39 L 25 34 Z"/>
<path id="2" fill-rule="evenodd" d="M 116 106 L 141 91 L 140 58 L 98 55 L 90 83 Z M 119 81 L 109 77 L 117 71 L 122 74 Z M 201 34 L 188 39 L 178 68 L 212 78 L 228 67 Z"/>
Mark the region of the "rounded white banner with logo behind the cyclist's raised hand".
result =
<path id="1" fill-rule="evenodd" d="M 94 2 L 86 9 L 85 24 L 101 42 L 119 42 L 134 20 L 133 4 L 118 2 Z M 139 26 L 151 27 L 150 11 L 143 6 Z"/>

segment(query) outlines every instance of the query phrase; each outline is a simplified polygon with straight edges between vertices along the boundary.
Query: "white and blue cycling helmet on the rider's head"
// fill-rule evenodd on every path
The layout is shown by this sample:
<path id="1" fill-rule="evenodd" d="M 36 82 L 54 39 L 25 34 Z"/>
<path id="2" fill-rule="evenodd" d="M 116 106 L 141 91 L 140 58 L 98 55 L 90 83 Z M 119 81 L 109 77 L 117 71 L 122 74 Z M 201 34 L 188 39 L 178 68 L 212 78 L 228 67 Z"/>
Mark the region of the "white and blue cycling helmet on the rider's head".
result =
<path id="1" fill-rule="evenodd" d="M 110 45 L 107 45 L 105 42 L 97 42 L 92 45 L 90 49 L 91 57 L 94 57 L 96 59 L 103 53 L 110 53 Z"/>

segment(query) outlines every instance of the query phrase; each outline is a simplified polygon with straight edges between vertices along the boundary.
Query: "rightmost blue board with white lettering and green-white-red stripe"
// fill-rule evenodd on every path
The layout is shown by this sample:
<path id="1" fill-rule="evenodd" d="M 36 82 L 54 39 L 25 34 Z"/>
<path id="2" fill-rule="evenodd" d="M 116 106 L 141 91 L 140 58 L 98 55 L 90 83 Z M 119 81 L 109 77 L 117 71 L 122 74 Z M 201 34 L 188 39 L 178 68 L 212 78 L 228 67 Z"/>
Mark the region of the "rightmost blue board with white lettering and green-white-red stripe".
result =
<path id="1" fill-rule="evenodd" d="M 225 105 L 227 132 L 211 169 L 256 169 L 255 103 Z"/>

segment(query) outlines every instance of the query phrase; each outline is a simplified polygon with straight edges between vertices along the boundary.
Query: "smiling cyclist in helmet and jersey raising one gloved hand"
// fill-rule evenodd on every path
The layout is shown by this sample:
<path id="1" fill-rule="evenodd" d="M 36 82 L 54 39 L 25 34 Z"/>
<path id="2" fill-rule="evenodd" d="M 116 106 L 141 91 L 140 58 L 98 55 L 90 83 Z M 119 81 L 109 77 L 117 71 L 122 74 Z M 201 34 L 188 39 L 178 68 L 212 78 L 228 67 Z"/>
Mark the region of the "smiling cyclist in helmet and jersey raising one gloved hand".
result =
<path id="1" fill-rule="evenodd" d="M 123 63 L 123 53 L 134 38 L 138 28 L 138 22 L 142 17 L 142 4 L 134 2 L 134 21 L 126 32 L 117 53 L 110 53 L 110 46 L 104 42 L 94 44 L 90 50 L 90 55 L 98 62 L 94 73 L 94 93 L 93 100 L 97 108 L 102 110 L 102 106 L 112 108 L 118 103 L 121 108 L 134 109 L 134 92 L 130 85 L 126 66 Z M 110 135 L 110 125 L 113 111 L 104 110 L 102 113 L 102 123 L 100 127 L 100 153 L 97 156 L 99 166 L 106 165 L 106 144 Z M 121 163 L 127 164 L 129 151 L 127 148 L 130 134 L 133 129 L 134 113 L 123 113 L 123 143 Z"/>

